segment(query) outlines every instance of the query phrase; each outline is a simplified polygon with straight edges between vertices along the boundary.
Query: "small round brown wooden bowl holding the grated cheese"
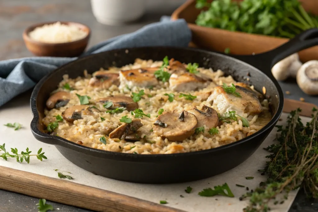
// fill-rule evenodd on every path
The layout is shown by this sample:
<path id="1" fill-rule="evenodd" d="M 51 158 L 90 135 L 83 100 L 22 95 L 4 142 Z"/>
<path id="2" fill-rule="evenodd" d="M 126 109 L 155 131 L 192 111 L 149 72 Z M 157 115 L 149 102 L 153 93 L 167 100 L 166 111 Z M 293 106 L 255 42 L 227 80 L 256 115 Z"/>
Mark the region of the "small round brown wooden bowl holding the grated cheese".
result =
<path id="1" fill-rule="evenodd" d="M 66 42 L 66 43 L 43 43 L 39 41 L 32 40 L 29 33 L 33 31 L 38 26 L 43 26 L 44 24 L 53 24 L 53 22 L 45 22 L 34 24 L 26 28 L 23 32 L 23 40 L 26 48 L 36 56 L 47 56 L 47 57 L 77 57 L 85 50 L 88 40 L 90 38 L 91 30 L 88 26 L 76 22 L 65 22 L 60 21 L 61 24 L 74 25 L 79 29 L 87 33 L 85 38 L 80 40 Z"/>

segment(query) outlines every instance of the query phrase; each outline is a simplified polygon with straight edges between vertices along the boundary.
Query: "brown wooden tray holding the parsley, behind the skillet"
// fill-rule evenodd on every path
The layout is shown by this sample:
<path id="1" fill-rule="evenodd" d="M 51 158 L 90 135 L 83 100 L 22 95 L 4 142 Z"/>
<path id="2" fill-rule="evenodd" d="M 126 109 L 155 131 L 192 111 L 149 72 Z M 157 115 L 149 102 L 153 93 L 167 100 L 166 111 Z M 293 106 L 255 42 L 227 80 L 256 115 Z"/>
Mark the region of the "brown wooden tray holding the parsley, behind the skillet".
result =
<path id="1" fill-rule="evenodd" d="M 207 2 L 212 2 L 212 0 L 207 0 Z M 318 15 L 318 0 L 300 0 L 300 2 L 306 11 Z M 270 51 L 289 40 L 288 38 L 198 26 L 195 24 L 195 20 L 201 10 L 197 9 L 195 5 L 196 0 L 188 0 L 171 15 L 172 20 L 183 18 L 188 23 L 192 31 L 191 47 L 219 52 L 224 52 L 226 48 L 230 48 L 231 54 L 251 55 Z M 300 51 L 299 57 L 303 63 L 309 60 L 318 60 L 318 46 Z"/>

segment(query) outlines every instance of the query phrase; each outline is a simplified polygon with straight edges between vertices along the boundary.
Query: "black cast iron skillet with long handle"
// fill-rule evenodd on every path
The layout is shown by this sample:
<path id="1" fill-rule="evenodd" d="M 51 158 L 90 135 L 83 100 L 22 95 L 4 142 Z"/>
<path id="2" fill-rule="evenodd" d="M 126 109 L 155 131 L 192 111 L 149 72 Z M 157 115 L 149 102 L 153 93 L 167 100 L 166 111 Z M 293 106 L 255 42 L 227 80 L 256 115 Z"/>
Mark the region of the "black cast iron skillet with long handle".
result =
<path id="1" fill-rule="evenodd" d="M 271 75 L 273 64 L 317 44 L 318 28 L 303 32 L 277 49 L 254 56 L 233 55 L 236 57 L 233 58 L 192 48 L 142 47 L 118 49 L 82 57 L 48 74 L 35 86 L 31 96 L 31 109 L 34 115 L 31 130 L 37 140 L 55 145 L 59 152 L 75 165 L 101 176 L 139 183 L 176 183 L 211 177 L 245 161 L 277 123 L 282 113 L 284 98 L 278 82 Z M 221 69 L 237 81 L 251 83 L 260 92 L 265 86 L 266 98 L 272 103 L 272 120 L 259 132 L 232 144 L 178 154 L 143 155 L 108 152 L 84 147 L 44 133 L 42 118 L 45 102 L 50 92 L 57 88 L 63 74 L 76 78 L 82 76 L 85 69 L 88 73 L 92 73 L 100 67 L 107 69 L 113 65 L 121 67 L 134 63 L 135 58 L 162 60 L 166 55 L 184 63 L 198 63 L 200 67 L 211 67 L 213 70 Z M 249 81 L 246 80 L 248 74 Z"/>

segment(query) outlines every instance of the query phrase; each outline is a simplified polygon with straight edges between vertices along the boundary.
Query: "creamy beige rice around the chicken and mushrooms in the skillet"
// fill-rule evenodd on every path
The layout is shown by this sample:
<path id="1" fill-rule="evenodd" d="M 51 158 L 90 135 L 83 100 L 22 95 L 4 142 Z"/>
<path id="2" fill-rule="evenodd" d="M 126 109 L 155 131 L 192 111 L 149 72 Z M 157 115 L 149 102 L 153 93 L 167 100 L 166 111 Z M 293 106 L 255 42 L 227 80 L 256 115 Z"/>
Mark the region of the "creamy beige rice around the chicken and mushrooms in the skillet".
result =
<path id="1" fill-rule="evenodd" d="M 112 67 L 110 69 L 120 71 L 135 68 L 157 67 L 161 64 L 162 61 L 153 62 L 152 60 L 146 61 L 136 59 L 134 64 L 126 65 L 121 68 Z M 213 72 L 212 69 L 198 68 L 198 70 L 209 75 L 211 79 L 213 79 L 213 82 L 211 82 L 210 85 L 204 89 L 190 92 L 191 95 L 197 96 L 197 98 L 193 101 L 179 98 L 180 92 L 172 92 L 169 89 L 168 82 L 163 83 L 160 81 L 159 85 L 153 87 L 152 89 L 134 87 L 130 91 L 126 87 L 121 86 L 121 89 L 119 89 L 118 86 L 112 85 L 109 89 L 105 90 L 89 86 L 88 83 L 92 76 L 87 74 L 86 71 L 84 71 L 85 77 L 77 77 L 76 79 L 69 79 L 67 75 L 64 75 L 63 81 L 59 83 L 58 89 L 54 92 L 66 91 L 63 86 L 68 83 L 70 87 L 74 89 L 70 91 L 72 98 L 66 106 L 60 107 L 58 109 L 54 108 L 52 110 L 45 110 L 45 118 L 43 119 L 43 122 L 47 126 L 50 122 L 54 122 L 56 120 L 54 116 L 61 115 L 62 112 L 70 106 L 79 105 L 79 99 L 75 93 L 82 96 L 87 95 L 91 97 L 89 105 L 97 107 L 100 112 L 94 112 L 93 116 L 84 115 L 83 119 L 75 120 L 73 123 L 63 120 L 63 122 L 60 122 L 59 126 L 55 129 L 57 136 L 72 142 L 82 141 L 83 146 L 106 151 L 134 154 L 170 154 L 210 149 L 229 144 L 259 131 L 270 121 L 271 113 L 268 110 L 268 102 L 267 100 L 264 100 L 262 102 L 262 113 L 248 117 L 246 114 L 243 115 L 243 117 L 249 121 L 249 127 L 244 127 L 241 119 L 238 117 L 238 121 L 231 120 L 231 123 L 223 123 L 217 127 L 219 130 L 218 134 L 210 135 L 208 133 L 209 129 L 205 127 L 203 133 L 193 134 L 182 142 L 174 142 L 169 141 L 168 139 L 162 139 L 160 135 L 151 132 L 153 123 L 156 120 L 156 116 L 158 115 L 158 110 L 160 108 L 163 108 L 164 111 L 182 111 L 190 110 L 194 106 L 200 107 L 206 105 L 219 112 L 216 106 L 212 106 L 210 103 L 202 101 L 200 94 L 211 91 L 213 92 L 213 89 L 216 86 L 222 85 L 223 83 L 235 83 L 235 81 L 231 76 L 224 77 L 224 72 L 221 70 L 217 70 L 215 72 Z M 131 115 L 131 112 L 126 110 L 122 113 L 116 114 L 105 113 L 107 109 L 103 108 L 103 104 L 99 103 L 97 99 L 107 97 L 109 95 L 119 94 L 131 96 L 131 92 L 138 93 L 141 89 L 144 90 L 145 95 L 143 95 L 143 99 L 138 101 L 139 109 L 142 109 L 146 114 L 150 113 L 150 118 L 142 118 L 141 122 L 143 126 L 139 128 L 138 131 L 142 133 L 142 138 L 144 138 L 144 136 L 146 137 L 140 141 L 128 142 L 125 140 L 110 139 L 108 136 L 101 133 L 102 129 L 105 127 L 111 126 L 116 128 L 123 124 L 119 121 L 122 116 L 127 115 L 129 118 L 134 118 L 134 116 Z M 165 93 L 175 94 L 174 101 L 169 102 L 168 96 L 164 95 Z M 102 121 L 100 117 L 103 117 L 105 120 Z M 107 140 L 106 145 L 100 142 L 100 138 L 103 136 Z"/>

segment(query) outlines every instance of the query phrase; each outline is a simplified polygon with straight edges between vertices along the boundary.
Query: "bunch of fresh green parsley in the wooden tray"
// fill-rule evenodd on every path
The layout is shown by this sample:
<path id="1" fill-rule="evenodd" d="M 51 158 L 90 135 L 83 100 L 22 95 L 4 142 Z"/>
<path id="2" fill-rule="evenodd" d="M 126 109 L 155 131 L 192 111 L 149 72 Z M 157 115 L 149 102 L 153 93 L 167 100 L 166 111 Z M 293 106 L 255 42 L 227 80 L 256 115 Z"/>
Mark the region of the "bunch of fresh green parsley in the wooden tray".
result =
<path id="1" fill-rule="evenodd" d="M 318 27 L 318 17 L 308 14 L 298 0 L 197 0 L 202 10 L 196 24 L 229 31 L 293 38 Z"/>

